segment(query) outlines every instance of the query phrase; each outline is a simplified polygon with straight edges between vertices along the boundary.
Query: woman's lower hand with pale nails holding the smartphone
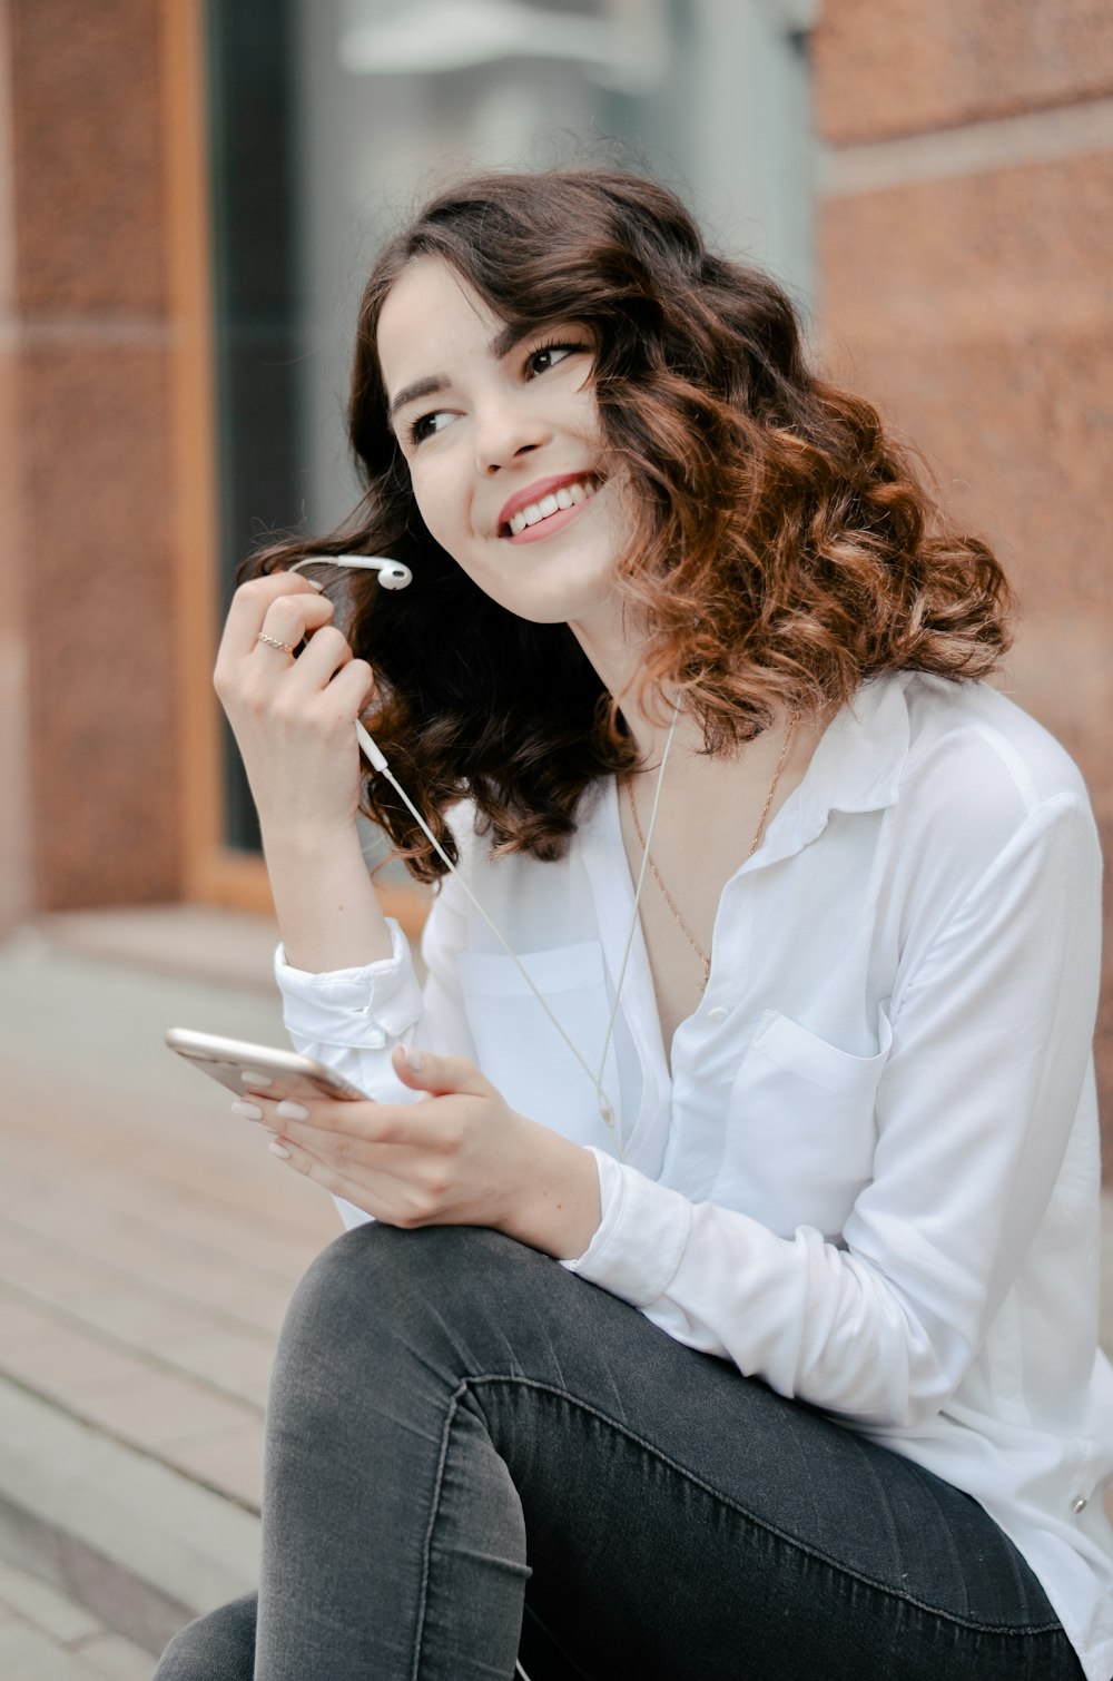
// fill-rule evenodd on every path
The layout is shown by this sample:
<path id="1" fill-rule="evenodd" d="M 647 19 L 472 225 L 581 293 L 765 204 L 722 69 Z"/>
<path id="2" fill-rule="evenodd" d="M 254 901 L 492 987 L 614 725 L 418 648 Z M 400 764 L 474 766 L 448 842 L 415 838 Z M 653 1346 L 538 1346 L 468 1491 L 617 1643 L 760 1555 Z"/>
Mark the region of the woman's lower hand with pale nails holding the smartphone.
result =
<path id="1" fill-rule="evenodd" d="M 600 1219 L 587 1150 L 511 1109 L 464 1057 L 398 1046 L 393 1067 L 427 1096 L 245 1096 L 276 1133 L 276 1155 L 287 1151 L 296 1172 L 387 1225 L 488 1225 L 558 1259 L 587 1249 Z"/>

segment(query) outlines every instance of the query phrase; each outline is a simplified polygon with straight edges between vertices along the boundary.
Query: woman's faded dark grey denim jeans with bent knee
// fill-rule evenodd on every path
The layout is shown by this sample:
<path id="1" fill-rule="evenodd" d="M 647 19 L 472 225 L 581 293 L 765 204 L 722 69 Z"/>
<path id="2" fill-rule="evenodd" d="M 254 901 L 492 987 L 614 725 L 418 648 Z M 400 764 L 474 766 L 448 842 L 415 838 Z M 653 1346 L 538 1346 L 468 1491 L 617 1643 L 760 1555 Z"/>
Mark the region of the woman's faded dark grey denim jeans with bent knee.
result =
<path id="1" fill-rule="evenodd" d="M 256 1632 L 257 1626 L 257 1632 Z M 982 1508 L 488 1230 L 289 1308 L 254 1595 L 156 1681 L 1079 1681 Z"/>

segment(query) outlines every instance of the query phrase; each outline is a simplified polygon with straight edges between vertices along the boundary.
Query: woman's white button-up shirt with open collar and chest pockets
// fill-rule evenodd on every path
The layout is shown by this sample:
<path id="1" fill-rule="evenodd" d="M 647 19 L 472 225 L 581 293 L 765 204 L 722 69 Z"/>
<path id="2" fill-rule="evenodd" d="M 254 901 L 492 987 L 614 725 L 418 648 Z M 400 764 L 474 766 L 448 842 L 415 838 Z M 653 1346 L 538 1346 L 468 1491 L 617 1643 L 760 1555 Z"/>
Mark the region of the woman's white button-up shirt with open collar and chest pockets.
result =
<path id="1" fill-rule="evenodd" d="M 472 891 L 595 1066 L 634 903 L 614 782 L 558 862 L 493 861 L 464 812 Z M 308 975 L 279 951 L 277 978 L 294 1044 L 370 1096 L 412 1098 L 388 1064 L 407 1039 L 590 1146 L 602 1224 L 572 1271 L 978 1499 L 1110 1681 L 1100 872 L 1083 782 L 1039 725 L 982 684 L 888 676 L 726 883 L 671 1057 L 636 933 L 614 1131 L 454 879 L 424 995 L 397 928 L 388 960 Z"/>

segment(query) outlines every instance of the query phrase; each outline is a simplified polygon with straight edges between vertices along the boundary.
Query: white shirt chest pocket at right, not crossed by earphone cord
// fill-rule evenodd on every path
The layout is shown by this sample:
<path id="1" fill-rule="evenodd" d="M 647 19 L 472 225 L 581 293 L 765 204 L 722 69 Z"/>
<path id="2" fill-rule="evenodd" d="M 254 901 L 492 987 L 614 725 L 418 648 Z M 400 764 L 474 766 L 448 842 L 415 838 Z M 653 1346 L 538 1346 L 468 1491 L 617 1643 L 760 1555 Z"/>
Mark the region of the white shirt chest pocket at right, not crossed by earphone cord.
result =
<path id="1" fill-rule="evenodd" d="M 893 1030 L 878 1012 L 878 1051 L 851 1056 L 775 1010 L 765 1012 L 735 1076 L 711 1200 L 790 1237 L 837 1237 L 873 1177 L 874 1101 Z"/>

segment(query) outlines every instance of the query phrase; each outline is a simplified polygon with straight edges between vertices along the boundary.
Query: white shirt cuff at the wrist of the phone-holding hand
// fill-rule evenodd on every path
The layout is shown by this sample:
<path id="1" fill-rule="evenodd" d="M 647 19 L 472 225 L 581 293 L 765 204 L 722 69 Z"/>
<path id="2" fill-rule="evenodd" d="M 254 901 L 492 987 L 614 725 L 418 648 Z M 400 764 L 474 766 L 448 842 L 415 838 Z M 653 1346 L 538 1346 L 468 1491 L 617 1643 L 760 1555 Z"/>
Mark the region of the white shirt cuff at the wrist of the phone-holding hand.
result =
<path id="1" fill-rule="evenodd" d="M 647 1308 L 664 1296 L 681 1264 L 691 1202 L 604 1150 L 588 1148 L 599 1168 L 602 1220 L 578 1261 L 563 1264 L 634 1308 Z"/>

